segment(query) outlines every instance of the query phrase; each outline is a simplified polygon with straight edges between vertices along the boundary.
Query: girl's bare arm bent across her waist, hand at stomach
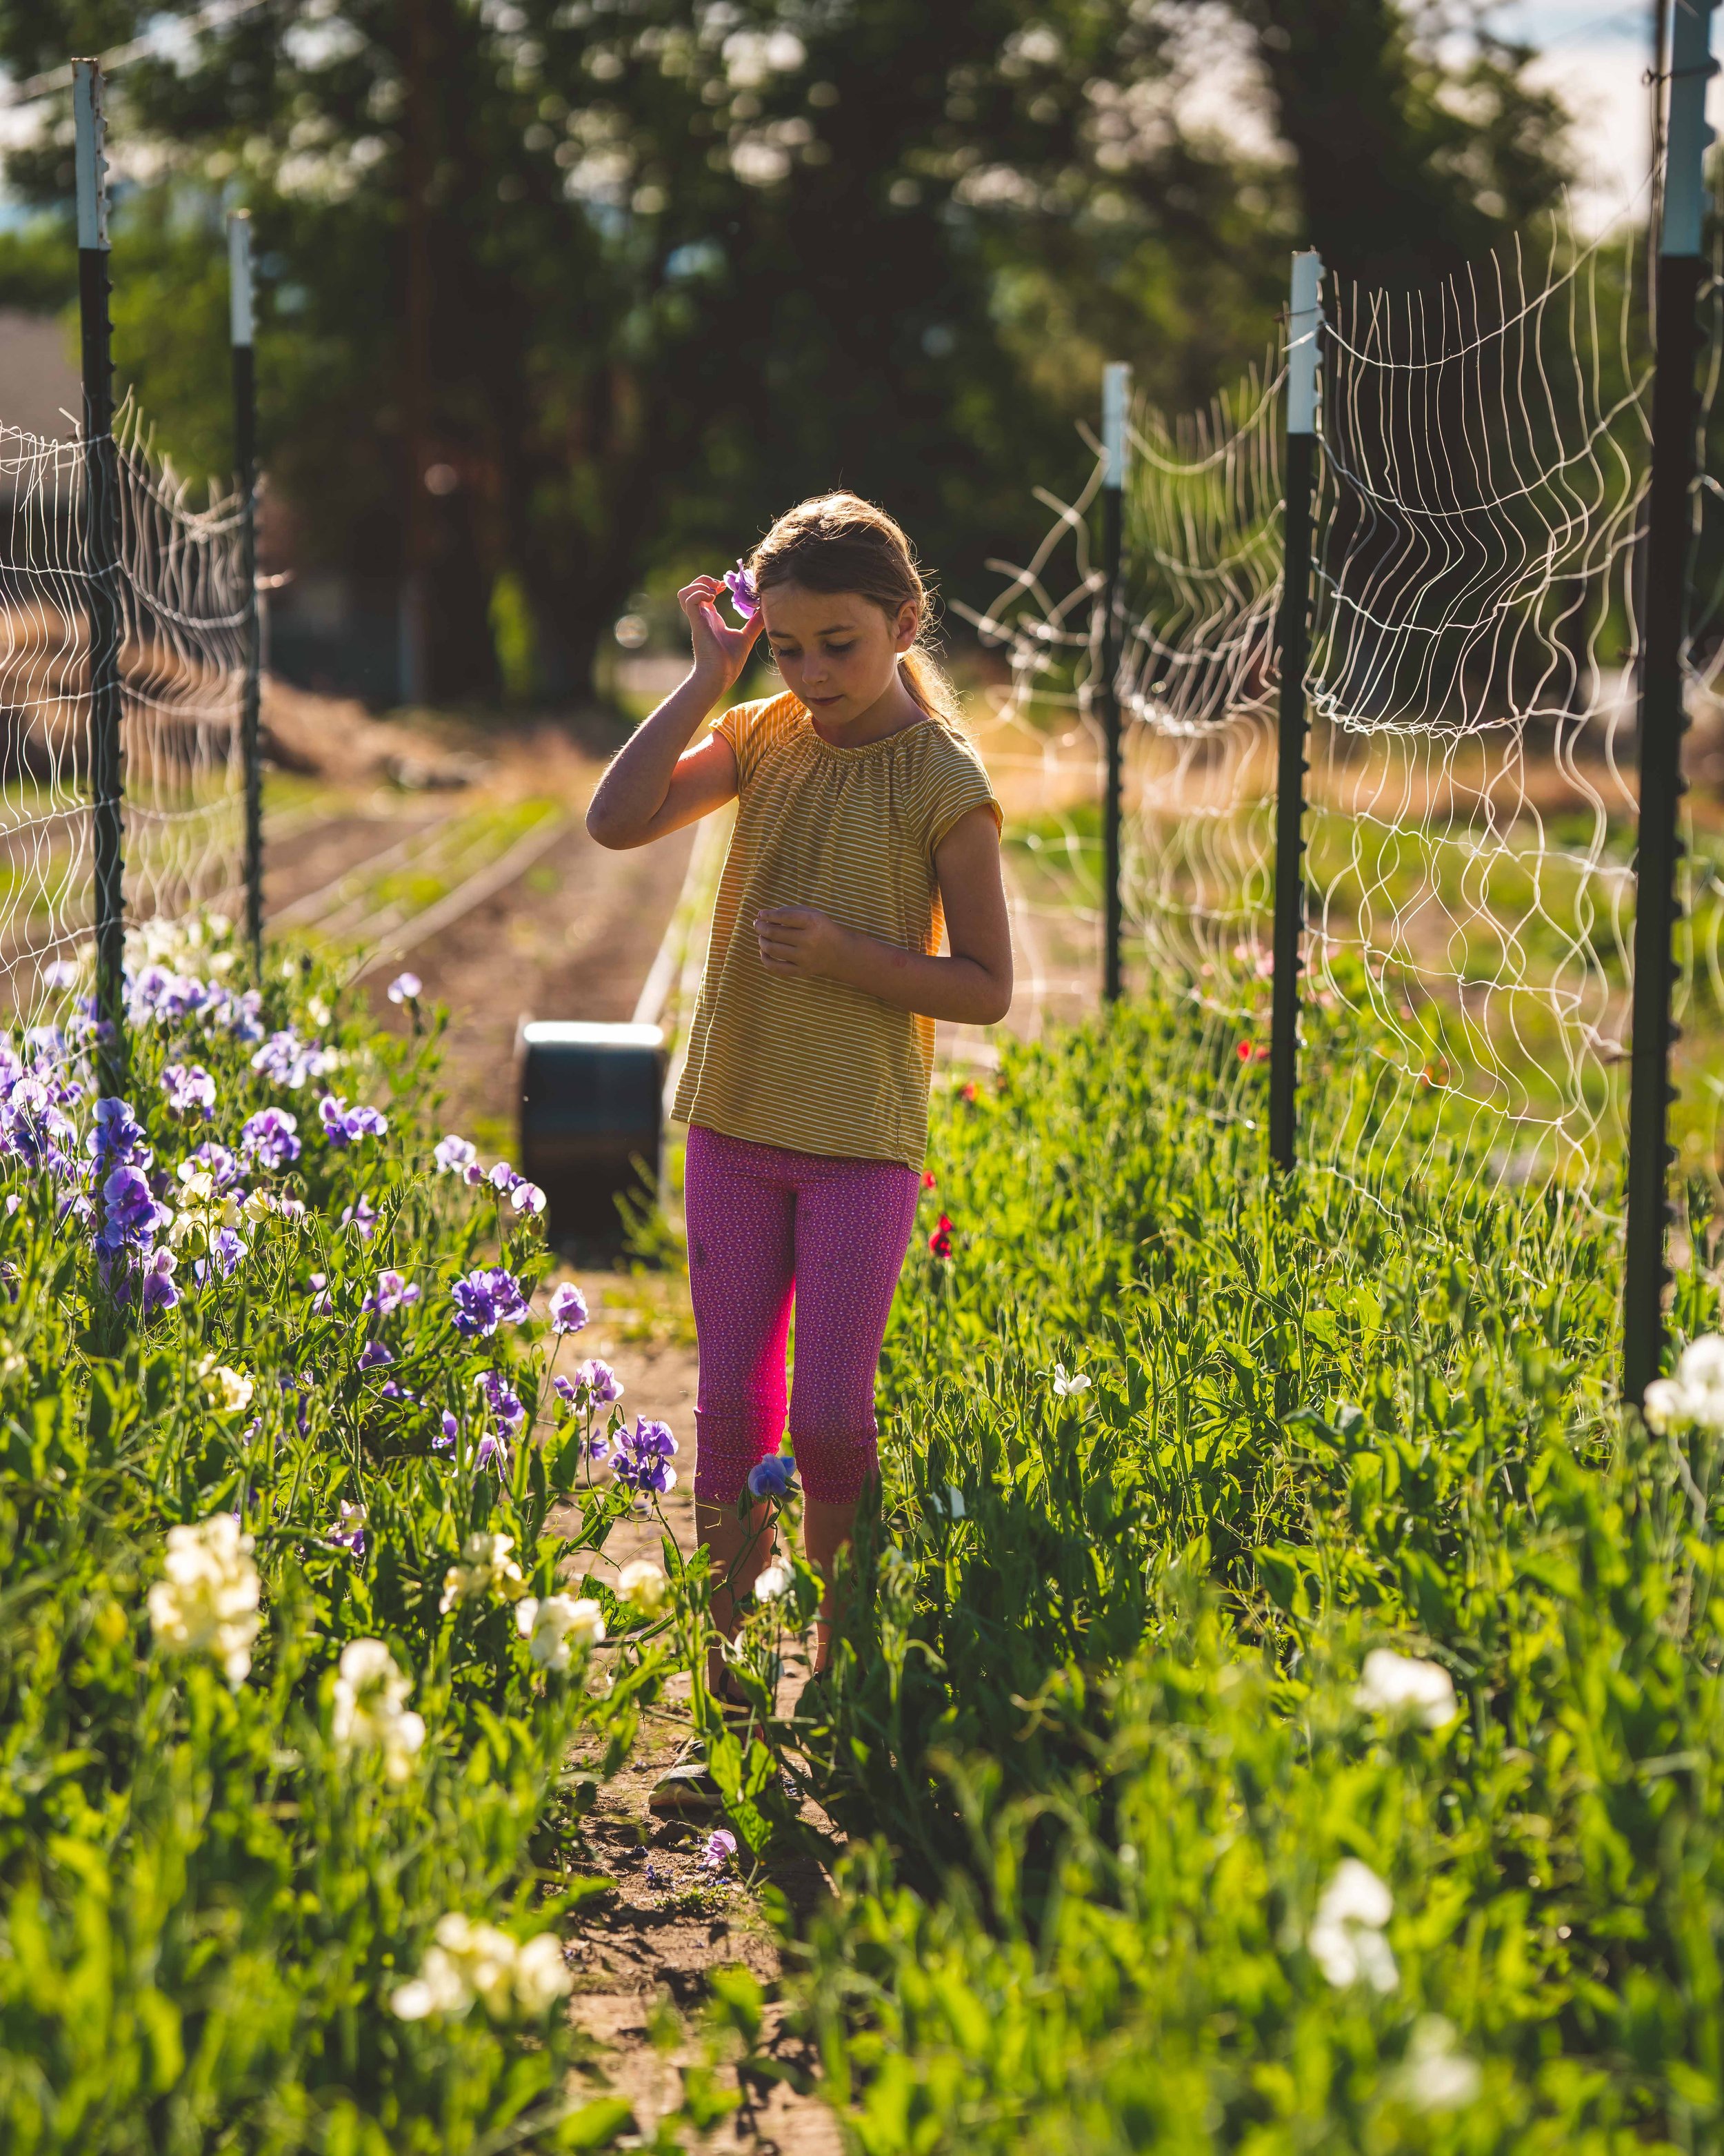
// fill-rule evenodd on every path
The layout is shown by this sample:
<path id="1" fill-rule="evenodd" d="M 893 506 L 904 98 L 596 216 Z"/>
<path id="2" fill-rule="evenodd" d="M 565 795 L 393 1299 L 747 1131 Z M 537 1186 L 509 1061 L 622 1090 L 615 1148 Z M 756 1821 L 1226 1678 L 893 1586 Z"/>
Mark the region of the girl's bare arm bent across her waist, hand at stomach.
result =
<path id="1" fill-rule="evenodd" d="M 754 916 L 761 964 L 767 972 L 843 981 L 922 1018 L 996 1024 L 1011 1009 L 1011 918 L 991 811 L 961 815 L 935 847 L 933 869 L 950 957 L 838 927 L 812 906 L 769 906 Z"/>

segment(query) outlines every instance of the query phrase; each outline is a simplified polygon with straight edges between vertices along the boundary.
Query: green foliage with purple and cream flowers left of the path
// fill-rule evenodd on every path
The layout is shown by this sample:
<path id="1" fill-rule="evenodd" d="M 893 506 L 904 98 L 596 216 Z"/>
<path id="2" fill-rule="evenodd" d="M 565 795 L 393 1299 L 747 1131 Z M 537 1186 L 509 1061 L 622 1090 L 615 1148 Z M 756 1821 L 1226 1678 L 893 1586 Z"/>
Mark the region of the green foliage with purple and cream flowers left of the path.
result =
<path id="1" fill-rule="evenodd" d="M 209 944 L 168 957 L 218 983 L 231 964 Z M 263 1026 L 317 1037 L 340 1065 L 325 1084 L 386 1106 L 384 1138 L 330 1145 L 325 1084 L 254 1069 L 256 1031 L 220 1005 L 136 1026 L 131 1100 L 181 1207 L 170 1311 L 140 1317 L 103 1285 L 91 1227 L 62 1214 L 75 1181 L 6 1158 L 0 2145 L 17 2156 L 599 2147 L 629 2122 L 571 2093 L 560 2001 L 390 2005 L 446 1912 L 526 1940 L 590 1895 L 565 1759 L 580 1740 L 621 1761 L 672 1639 L 586 1580 L 621 1647 L 567 1671 L 532 1658 L 509 1593 L 547 1598 L 571 1559 L 597 1574 L 623 1494 L 590 1485 L 580 1421 L 476 1457 L 476 1380 L 502 1376 L 532 1414 L 545 1360 L 526 1326 L 457 1337 L 450 1283 L 481 1263 L 530 1283 L 543 1248 L 489 1188 L 433 1173 L 435 1028 L 375 1039 L 328 1003 L 310 964 L 272 968 Z M 213 1076 L 213 1121 L 168 1115 L 175 1061 Z M 237 1151 L 265 1106 L 297 1112 L 304 1153 L 246 1181 L 306 1210 L 241 1216 L 246 1257 L 198 1281 L 207 1238 L 183 1233 L 196 1190 L 175 1171 L 209 1138 Z M 418 1300 L 379 1309 L 386 1268 Z M 343 1505 L 366 1507 L 360 1550 L 336 1539 Z M 170 1651 L 151 1606 L 168 1531 L 228 1514 L 261 1580 L 244 1675 Z M 472 1535 L 513 1537 L 513 1589 L 448 1593 Z M 425 1725 L 399 1772 L 343 1736 L 360 1639 L 384 1643 Z"/>

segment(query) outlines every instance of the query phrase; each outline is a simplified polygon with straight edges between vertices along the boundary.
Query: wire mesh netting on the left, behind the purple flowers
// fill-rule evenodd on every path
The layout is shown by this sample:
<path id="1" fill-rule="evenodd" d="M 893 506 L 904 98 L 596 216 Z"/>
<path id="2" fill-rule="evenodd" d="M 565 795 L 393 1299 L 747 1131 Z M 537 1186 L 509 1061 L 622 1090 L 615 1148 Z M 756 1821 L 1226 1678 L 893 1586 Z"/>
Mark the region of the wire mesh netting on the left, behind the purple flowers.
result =
<path id="1" fill-rule="evenodd" d="M 114 446 L 125 914 L 149 938 L 241 895 L 244 502 L 194 509 L 134 407 Z M 28 1022 L 86 985 L 93 931 L 86 502 L 82 440 L 0 427 L 0 998 Z"/>

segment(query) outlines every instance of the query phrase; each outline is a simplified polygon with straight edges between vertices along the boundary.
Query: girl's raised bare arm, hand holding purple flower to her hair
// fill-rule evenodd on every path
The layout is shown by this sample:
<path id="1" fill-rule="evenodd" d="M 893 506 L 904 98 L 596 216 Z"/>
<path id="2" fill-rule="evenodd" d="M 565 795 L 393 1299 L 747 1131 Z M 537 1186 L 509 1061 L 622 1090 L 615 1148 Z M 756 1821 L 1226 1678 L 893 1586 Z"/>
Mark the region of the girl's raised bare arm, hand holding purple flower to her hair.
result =
<path id="1" fill-rule="evenodd" d="M 677 599 L 694 634 L 694 666 L 610 761 L 586 811 L 586 828 L 614 849 L 651 845 L 668 830 L 735 800 L 737 759 L 731 744 L 709 735 L 694 740 L 711 707 L 735 688 L 759 632 L 759 617 L 741 630 L 726 630 L 718 617 L 718 578 L 698 576 Z"/>

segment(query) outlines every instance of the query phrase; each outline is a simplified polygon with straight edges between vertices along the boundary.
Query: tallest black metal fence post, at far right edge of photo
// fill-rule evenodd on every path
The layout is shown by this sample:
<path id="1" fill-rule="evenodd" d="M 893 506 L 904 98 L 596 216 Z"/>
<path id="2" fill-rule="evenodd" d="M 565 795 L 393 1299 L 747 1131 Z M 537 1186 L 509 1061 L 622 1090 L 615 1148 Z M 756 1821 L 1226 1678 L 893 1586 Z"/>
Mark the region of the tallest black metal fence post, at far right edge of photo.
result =
<path id="1" fill-rule="evenodd" d="M 1640 651 L 1640 839 L 1629 1056 L 1629 1218 L 1623 1270 L 1623 1395 L 1636 1406 L 1664 1354 L 1668 1218 L 1670 990 L 1677 927 L 1677 802 L 1683 793 L 1683 630 L 1700 356 L 1700 213 L 1713 73 L 1711 0 L 1672 0 L 1670 101 L 1657 263 L 1653 472 L 1646 502 L 1646 634 Z"/>

